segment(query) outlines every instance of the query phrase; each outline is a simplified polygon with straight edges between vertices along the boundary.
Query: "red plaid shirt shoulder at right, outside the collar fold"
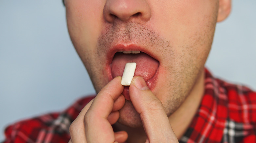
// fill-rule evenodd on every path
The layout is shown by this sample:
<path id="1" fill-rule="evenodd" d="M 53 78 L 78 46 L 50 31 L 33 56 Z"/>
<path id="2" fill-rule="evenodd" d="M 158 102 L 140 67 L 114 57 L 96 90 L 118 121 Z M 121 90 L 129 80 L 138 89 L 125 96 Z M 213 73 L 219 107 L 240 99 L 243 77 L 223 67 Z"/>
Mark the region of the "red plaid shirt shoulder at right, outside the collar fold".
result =
<path id="1" fill-rule="evenodd" d="M 218 82 L 227 99 L 223 142 L 256 142 L 256 92 L 243 85 Z"/>

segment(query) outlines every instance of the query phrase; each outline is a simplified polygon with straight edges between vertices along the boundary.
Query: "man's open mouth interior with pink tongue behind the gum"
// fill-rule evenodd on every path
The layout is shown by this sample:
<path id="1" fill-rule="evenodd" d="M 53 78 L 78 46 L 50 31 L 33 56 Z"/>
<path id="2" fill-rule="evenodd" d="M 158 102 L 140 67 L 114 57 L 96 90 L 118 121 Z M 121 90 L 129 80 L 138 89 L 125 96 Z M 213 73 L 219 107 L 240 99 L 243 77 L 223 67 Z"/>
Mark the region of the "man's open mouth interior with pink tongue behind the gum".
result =
<path id="1" fill-rule="evenodd" d="M 156 85 L 159 61 L 140 51 L 118 51 L 115 53 L 110 65 L 113 77 L 122 76 L 125 64 L 128 62 L 137 63 L 134 76 L 141 76 L 152 90 Z M 122 93 L 126 100 L 130 100 L 129 86 L 124 86 Z"/>

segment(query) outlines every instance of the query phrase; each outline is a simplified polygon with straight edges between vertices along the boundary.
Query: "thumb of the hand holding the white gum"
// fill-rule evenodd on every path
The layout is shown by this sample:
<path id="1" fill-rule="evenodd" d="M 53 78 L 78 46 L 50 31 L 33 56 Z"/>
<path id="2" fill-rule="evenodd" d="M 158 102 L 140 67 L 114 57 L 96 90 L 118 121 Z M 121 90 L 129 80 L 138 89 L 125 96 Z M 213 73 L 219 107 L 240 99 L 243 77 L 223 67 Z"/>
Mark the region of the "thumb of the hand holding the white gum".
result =
<path id="1" fill-rule="evenodd" d="M 178 143 L 161 101 L 149 90 L 144 79 L 136 76 L 129 87 L 130 99 L 147 135 L 146 142 Z"/>

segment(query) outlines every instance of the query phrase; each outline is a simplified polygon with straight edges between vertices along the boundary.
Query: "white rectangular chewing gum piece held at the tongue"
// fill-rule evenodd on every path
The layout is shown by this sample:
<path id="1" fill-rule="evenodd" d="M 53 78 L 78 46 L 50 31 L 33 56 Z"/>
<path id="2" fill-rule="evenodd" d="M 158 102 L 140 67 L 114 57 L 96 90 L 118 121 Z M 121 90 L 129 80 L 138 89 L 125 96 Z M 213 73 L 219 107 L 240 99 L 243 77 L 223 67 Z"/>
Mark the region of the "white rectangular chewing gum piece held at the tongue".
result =
<path id="1" fill-rule="evenodd" d="M 129 86 L 131 84 L 136 69 L 136 65 L 136 63 L 126 63 L 123 71 L 121 85 Z"/>

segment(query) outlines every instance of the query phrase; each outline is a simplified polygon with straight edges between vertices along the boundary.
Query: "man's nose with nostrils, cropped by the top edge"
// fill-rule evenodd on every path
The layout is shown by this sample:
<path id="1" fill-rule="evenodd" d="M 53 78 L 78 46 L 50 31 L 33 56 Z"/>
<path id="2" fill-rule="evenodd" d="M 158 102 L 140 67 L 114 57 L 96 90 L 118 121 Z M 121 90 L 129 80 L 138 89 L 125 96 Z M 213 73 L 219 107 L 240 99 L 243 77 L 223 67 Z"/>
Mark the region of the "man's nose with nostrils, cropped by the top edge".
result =
<path id="1" fill-rule="evenodd" d="M 151 16 L 151 9 L 146 0 L 107 0 L 103 14 L 109 23 L 113 23 L 116 19 L 148 21 Z"/>

